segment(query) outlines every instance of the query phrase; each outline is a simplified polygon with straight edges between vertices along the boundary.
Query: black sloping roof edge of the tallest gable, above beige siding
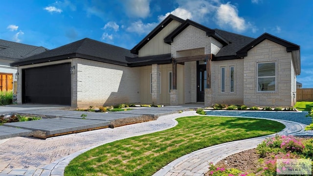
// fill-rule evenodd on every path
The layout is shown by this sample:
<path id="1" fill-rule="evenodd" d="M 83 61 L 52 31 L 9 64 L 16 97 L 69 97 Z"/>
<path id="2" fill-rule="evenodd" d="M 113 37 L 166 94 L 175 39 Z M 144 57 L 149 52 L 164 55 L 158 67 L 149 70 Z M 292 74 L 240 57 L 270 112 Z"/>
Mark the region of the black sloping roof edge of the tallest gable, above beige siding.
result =
<path id="1" fill-rule="evenodd" d="M 140 48 L 142 48 L 145 44 L 147 44 L 149 40 L 154 38 L 157 33 L 159 33 L 167 24 L 169 24 L 173 20 L 176 20 L 181 23 L 185 22 L 183 19 L 176 17 L 175 15 L 172 15 L 172 14 L 168 15 L 145 38 L 143 38 L 138 44 L 134 46 L 133 49 L 131 49 L 131 53 L 138 54 L 138 51 Z"/>

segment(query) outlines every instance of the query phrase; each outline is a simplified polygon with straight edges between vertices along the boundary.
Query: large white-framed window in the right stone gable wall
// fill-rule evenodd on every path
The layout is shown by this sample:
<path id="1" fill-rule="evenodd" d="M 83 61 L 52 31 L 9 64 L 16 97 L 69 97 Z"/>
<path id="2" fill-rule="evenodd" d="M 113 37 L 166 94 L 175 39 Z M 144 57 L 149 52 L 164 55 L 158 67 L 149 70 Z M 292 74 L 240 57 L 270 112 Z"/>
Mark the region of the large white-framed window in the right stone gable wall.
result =
<path id="1" fill-rule="evenodd" d="M 276 90 L 276 63 L 258 63 L 258 91 Z"/>

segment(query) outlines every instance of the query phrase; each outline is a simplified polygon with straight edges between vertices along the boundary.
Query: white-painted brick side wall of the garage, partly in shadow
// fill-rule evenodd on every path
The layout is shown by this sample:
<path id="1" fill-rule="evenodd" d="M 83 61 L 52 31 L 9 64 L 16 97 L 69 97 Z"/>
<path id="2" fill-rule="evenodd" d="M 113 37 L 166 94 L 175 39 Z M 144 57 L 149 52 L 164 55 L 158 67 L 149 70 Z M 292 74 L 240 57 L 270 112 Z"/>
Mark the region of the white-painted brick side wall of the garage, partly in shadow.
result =
<path id="1" fill-rule="evenodd" d="M 140 101 L 139 68 L 76 59 L 77 106 L 103 106 Z"/>

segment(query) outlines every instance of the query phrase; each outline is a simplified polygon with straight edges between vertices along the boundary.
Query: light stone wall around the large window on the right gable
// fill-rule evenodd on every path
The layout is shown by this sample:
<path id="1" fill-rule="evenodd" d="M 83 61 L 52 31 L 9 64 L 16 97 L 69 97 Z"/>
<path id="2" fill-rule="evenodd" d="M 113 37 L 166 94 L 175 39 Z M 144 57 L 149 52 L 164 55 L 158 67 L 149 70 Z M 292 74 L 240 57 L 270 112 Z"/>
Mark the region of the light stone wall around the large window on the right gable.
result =
<path id="1" fill-rule="evenodd" d="M 251 48 L 244 58 L 244 104 L 247 106 L 292 106 L 291 52 L 286 47 L 264 40 Z M 276 90 L 257 91 L 257 63 L 276 62 Z"/>

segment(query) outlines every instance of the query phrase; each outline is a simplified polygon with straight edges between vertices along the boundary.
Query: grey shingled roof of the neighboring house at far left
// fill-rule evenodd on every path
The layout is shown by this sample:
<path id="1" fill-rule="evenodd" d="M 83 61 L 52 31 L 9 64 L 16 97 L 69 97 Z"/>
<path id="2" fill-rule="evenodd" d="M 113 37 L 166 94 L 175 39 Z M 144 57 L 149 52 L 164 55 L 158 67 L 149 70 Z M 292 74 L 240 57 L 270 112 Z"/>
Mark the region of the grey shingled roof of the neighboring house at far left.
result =
<path id="1" fill-rule="evenodd" d="M 0 59 L 20 61 L 29 56 L 45 52 L 47 48 L 43 46 L 33 46 L 0 39 Z"/>

